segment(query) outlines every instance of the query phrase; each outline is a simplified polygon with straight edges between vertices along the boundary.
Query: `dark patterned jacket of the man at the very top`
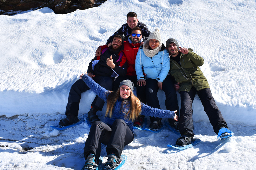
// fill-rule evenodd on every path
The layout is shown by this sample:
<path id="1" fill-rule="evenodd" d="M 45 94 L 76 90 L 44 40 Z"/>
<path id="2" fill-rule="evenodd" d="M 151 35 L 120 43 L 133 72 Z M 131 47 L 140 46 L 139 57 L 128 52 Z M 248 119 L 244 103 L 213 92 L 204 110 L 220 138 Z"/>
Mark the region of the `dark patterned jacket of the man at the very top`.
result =
<path id="1" fill-rule="evenodd" d="M 147 26 L 141 22 L 138 22 L 137 23 L 137 26 L 136 27 L 139 27 L 142 31 L 142 38 L 143 40 L 147 40 L 148 39 L 148 36 L 150 34 L 150 31 L 148 30 Z M 107 44 L 109 42 L 112 42 L 112 37 L 115 35 L 115 34 L 121 34 L 121 35 L 124 35 L 124 40 L 127 41 L 128 38 L 130 37 L 131 33 L 132 33 L 132 29 L 128 26 L 127 23 L 125 23 L 124 25 L 122 25 L 121 28 L 119 28 L 119 30 L 117 30 L 112 36 L 110 36 L 107 40 Z"/>

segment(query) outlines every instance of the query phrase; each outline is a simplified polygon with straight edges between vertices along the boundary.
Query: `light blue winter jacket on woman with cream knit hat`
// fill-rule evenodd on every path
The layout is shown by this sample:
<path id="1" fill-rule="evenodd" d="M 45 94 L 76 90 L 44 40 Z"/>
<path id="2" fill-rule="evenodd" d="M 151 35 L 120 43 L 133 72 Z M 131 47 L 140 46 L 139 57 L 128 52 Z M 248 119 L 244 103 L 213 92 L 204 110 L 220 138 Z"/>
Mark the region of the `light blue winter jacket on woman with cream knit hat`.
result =
<path id="1" fill-rule="evenodd" d="M 153 57 L 148 57 L 144 53 L 142 47 L 136 56 L 135 70 L 137 79 L 155 79 L 158 82 L 163 82 L 170 70 L 169 53 L 162 44 L 161 50 Z M 146 77 L 144 78 L 144 73 Z"/>

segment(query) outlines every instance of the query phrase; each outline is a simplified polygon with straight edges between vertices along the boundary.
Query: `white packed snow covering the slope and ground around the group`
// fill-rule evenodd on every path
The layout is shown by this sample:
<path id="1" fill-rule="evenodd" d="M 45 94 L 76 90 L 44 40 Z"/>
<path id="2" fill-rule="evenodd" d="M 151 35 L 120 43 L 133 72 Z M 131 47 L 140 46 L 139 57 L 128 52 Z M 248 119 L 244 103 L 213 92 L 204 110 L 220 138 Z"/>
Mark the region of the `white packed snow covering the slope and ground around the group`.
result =
<path id="1" fill-rule="evenodd" d="M 131 11 L 150 31 L 159 28 L 164 44 L 175 38 L 204 58 L 200 68 L 235 136 L 217 140 L 196 96 L 194 137 L 201 139 L 199 144 L 177 151 L 166 146 L 179 137 L 168 128 L 160 133 L 135 130 L 133 142 L 124 148 L 122 169 L 255 169 L 255 0 L 108 0 L 65 15 L 49 8 L 0 15 L 0 169 L 82 168 L 88 125 L 62 131 L 50 125 L 65 118 L 71 85 Z M 80 119 L 94 97 L 90 90 L 82 94 Z M 165 109 L 164 92 L 159 90 L 158 97 Z"/>

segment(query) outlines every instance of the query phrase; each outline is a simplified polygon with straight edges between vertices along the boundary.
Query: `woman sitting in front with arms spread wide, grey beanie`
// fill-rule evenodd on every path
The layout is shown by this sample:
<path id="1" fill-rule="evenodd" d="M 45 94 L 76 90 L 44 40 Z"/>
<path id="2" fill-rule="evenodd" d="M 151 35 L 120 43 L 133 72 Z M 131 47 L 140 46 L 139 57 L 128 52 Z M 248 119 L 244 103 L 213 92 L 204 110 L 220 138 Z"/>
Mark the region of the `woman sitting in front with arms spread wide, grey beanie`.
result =
<path id="1" fill-rule="evenodd" d="M 90 89 L 107 103 L 105 122 L 93 122 L 86 139 L 84 169 L 97 167 L 101 143 L 107 145 L 106 167 L 115 167 L 119 162 L 124 145 L 133 141 L 133 121 L 140 114 L 177 120 L 176 111 L 156 109 L 141 103 L 132 92 L 134 84 L 130 80 L 122 81 L 118 90 L 112 92 L 93 81 L 87 73 L 81 75 L 80 79 L 84 80 Z"/>

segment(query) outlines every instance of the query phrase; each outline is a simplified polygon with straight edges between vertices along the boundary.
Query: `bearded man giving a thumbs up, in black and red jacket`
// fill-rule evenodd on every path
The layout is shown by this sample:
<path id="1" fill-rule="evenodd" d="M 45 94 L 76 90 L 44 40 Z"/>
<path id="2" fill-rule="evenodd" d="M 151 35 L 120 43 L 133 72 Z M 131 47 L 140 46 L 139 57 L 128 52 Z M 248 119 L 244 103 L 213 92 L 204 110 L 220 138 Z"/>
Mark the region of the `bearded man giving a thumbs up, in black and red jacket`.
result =
<path id="1" fill-rule="evenodd" d="M 88 66 L 88 75 L 106 90 L 112 90 L 113 79 L 117 76 L 125 76 L 127 71 L 127 61 L 124 49 L 124 38 L 120 34 L 114 35 L 112 45 L 101 51 L 102 55 L 95 56 Z M 79 120 L 78 110 L 81 99 L 81 93 L 89 90 L 90 88 L 84 83 L 82 79 L 77 80 L 71 87 L 68 104 L 66 107 L 66 118 L 59 122 L 60 126 L 67 126 L 77 123 Z M 91 104 L 91 110 L 102 110 L 104 101 L 98 96 L 95 97 Z M 89 112 L 90 113 L 90 112 Z M 98 116 L 89 115 L 90 122 L 99 121 Z"/>

